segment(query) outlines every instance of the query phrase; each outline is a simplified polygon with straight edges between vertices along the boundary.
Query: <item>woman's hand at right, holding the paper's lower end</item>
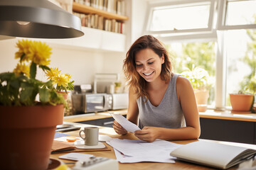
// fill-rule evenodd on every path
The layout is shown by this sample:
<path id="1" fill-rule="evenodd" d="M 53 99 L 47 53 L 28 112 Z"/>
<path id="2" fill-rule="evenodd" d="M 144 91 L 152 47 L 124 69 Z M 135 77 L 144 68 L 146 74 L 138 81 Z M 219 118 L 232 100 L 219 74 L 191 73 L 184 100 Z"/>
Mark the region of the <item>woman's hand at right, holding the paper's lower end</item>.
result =
<path id="1" fill-rule="evenodd" d="M 146 142 L 154 142 L 159 138 L 159 128 L 145 126 L 142 130 L 137 130 L 134 135 L 139 138 L 139 140 L 144 140 Z"/>

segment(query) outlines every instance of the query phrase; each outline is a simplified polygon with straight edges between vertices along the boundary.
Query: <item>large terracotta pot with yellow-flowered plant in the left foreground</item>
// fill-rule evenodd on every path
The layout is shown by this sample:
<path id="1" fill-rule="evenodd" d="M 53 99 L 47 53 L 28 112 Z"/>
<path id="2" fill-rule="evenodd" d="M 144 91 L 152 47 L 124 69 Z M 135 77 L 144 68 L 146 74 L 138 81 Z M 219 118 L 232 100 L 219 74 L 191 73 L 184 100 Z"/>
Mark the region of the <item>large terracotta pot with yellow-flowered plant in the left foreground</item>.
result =
<path id="1" fill-rule="evenodd" d="M 56 125 L 63 124 L 66 105 L 51 87 L 36 79 L 38 68 L 50 70 L 46 43 L 18 40 L 14 72 L 0 74 L 0 167 L 47 169 Z"/>

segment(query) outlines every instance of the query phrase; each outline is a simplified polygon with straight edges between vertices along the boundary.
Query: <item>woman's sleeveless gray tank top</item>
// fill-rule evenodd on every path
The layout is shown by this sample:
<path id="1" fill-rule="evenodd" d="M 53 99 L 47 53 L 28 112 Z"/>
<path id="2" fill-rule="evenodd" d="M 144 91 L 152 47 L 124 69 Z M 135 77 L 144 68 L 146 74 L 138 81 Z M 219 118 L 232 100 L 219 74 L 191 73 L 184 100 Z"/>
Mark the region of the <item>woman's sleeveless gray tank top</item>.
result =
<path id="1" fill-rule="evenodd" d="M 159 106 L 153 106 L 146 98 L 138 98 L 139 128 L 154 126 L 161 128 L 182 128 L 185 126 L 181 104 L 176 94 L 176 80 L 178 74 L 174 74 L 168 84 L 164 98 Z M 144 100 L 143 100 L 144 99 Z"/>

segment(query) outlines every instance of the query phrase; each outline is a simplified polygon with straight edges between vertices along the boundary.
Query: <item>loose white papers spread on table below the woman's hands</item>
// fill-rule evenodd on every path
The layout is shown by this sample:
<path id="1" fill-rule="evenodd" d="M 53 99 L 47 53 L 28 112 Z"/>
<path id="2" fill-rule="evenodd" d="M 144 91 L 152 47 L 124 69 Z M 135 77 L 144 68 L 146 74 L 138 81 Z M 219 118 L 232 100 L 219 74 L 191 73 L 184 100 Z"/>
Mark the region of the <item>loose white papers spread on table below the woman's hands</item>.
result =
<path id="1" fill-rule="evenodd" d="M 107 144 L 114 148 L 117 161 L 121 163 L 174 163 L 174 157 L 170 156 L 170 152 L 181 146 L 165 140 L 156 140 L 150 143 L 142 140 L 113 139 Z"/>

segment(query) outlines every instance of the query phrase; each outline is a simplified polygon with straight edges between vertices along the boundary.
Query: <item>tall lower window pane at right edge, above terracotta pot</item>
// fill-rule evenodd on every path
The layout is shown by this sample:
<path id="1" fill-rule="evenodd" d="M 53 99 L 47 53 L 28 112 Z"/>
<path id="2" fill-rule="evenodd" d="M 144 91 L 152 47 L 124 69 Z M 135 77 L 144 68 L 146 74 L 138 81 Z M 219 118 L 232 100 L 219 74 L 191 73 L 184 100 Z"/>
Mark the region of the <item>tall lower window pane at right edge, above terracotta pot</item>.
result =
<path id="1" fill-rule="evenodd" d="M 245 91 L 245 84 L 255 75 L 256 30 L 228 30 L 227 47 L 227 106 L 229 94 Z M 247 92 L 247 91 L 245 91 Z"/>

